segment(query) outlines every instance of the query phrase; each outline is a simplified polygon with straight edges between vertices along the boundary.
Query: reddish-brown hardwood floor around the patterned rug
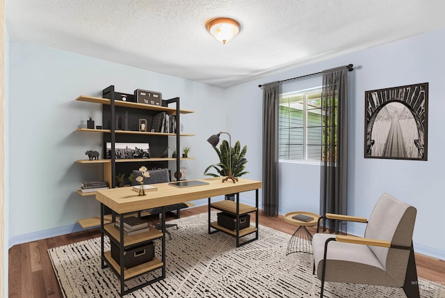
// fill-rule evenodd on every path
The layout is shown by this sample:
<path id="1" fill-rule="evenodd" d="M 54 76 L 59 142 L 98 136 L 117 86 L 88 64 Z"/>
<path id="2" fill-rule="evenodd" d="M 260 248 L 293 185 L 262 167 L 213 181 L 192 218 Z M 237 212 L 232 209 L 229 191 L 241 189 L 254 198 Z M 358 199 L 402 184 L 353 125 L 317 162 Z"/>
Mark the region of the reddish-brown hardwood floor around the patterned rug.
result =
<path id="1" fill-rule="evenodd" d="M 181 210 L 181 217 L 202 212 L 207 212 L 207 206 Z M 152 220 L 155 221 L 156 217 L 152 217 Z M 254 221 L 254 218 L 251 221 Z M 282 216 L 264 217 L 260 214 L 259 224 L 289 234 L 293 234 L 296 229 L 295 226 L 286 223 Z M 309 228 L 311 233 L 314 233 L 315 229 Z M 100 237 L 98 228 L 13 246 L 9 250 L 9 297 L 63 297 L 47 249 L 94 237 Z M 416 266 L 420 278 L 445 285 L 444 260 L 416 253 Z"/>

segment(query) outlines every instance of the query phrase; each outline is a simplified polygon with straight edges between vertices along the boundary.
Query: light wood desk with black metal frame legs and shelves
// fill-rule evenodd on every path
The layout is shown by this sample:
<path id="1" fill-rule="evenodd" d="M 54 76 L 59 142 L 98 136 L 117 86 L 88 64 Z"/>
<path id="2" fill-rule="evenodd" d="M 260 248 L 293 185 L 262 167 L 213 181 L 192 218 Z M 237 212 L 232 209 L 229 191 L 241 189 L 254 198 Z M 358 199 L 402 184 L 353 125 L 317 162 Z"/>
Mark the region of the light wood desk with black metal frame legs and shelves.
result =
<path id="1" fill-rule="evenodd" d="M 239 203 L 239 193 L 243 191 L 256 191 L 256 207 L 252 207 L 252 210 L 256 210 L 256 230 L 253 232 L 257 233 L 258 238 L 258 189 L 262 187 L 261 181 L 247 180 L 239 178 L 238 182 L 222 182 L 221 178 L 209 178 L 200 179 L 201 181 L 208 182 L 208 185 L 199 185 L 193 187 L 175 187 L 168 185 L 168 183 L 156 184 L 156 191 L 147 191 L 145 196 L 138 196 L 138 193 L 133 191 L 131 187 L 120 187 L 115 189 L 102 189 L 96 192 L 96 199 L 101 203 L 101 255 L 102 255 L 102 268 L 110 267 L 113 272 L 120 279 L 120 295 L 127 295 L 129 292 L 143 288 L 149 283 L 154 283 L 165 278 L 165 209 L 164 206 L 172 205 L 176 203 L 183 203 L 187 201 L 198 200 L 201 198 L 209 198 L 209 233 L 210 233 L 210 208 L 211 208 L 211 197 L 222 196 L 225 194 L 238 194 L 236 196 L 236 203 L 232 202 L 235 206 L 232 206 L 233 210 L 227 210 L 221 204 L 212 204 L 212 207 L 220 210 L 227 210 L 239 217 L 240 211 L 243 212 L 243 204 Z M 214 206 L 213 206 L 214 205 Z M 224 204 L 223 204 L 224 205 Z M 105 207 L 110 208 L 117 215 L 123 217 L 126 214 L 133 212 L 138 212 L 142 210 L 147 210 L 150 208 L 161 207 L 161 231 L 156 229 L 150 229 L 148 233 L 138 234 L 134 236 L 127 237 L 124 235 L 124 225 L 120 225 L 120 231 L 114 228 L 114 223 L 104 224 L 104 213 Z M 240 209 L 241 207 L 241 209 Z M 112 220 L 114 221 L 114 219 Z M 213 228 L 223 230 L 218 226 L 212 226 Z M 157 231 L 157 232 L 156 232 Z M 223 230 L 223 232 L 226 232 Z M 253 233 L 250 232 L 250 233 Z M 109 251 L 104 252 L 104 235 L 108 235 L 110 241 L 115 242 L 120 249 L 120 264 L 115 262 L 111 258 L 111 253 Z M 232 235 L 236 236 L 236 245 L 239 244 L 239 237 L 242 237 L 239 233 L 239 229 Z M 161 239 L 161 260 L 159 258 L 154 258 L 154 260 L 132 267 L 129 269 L 124 268 L 124 249 L 143 242 L 149 242 L 152 240 Z M 154 278 L 147 283 L 143 283 L 134 288 L 129 288 L 124 290 L 124 281 L 131 279 L 133 277 L 139 276 L 140 274 L 145 274 L 155 269 L 162 269 L 161 276 Z"/>

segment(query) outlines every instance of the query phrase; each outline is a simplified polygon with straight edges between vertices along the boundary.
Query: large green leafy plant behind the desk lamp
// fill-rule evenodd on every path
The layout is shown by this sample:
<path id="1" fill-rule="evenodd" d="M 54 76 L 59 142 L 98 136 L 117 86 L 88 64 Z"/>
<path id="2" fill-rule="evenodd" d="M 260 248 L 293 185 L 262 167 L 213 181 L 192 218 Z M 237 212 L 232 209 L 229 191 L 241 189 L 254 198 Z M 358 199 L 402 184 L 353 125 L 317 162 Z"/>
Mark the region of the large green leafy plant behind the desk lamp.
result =
<path id="1" fill-rule="evenodd" d="M 212 177 L 222 177 L 229 175 L 229 152 L 232 155 L 232 176 L 233 177 L 241 177 L 242 175 L 245 175 L 249 172 L 244 171 L 245 164 L 248 162 L 247 159 L 245 159 L 245 152 L 248 150 L 248 146 L 244 146 L 241 150 L 241 143 L 240 141 L 236 141 L 235 146 L 229 150 L 229 142 L 226 140 L 223 140 L 223 142 L 220 145 L 220 148 L 213 147 L 215 149 L 216 154 L 218 154 L 218 157 L 220 158 L 220 162 L 218 164 L 211 164 L 208 166 L 205 171 L 204 175 L 212 176 Z M 216 173 L 208 173 L 211 171 L 211 169 L 216 170 Z"/>

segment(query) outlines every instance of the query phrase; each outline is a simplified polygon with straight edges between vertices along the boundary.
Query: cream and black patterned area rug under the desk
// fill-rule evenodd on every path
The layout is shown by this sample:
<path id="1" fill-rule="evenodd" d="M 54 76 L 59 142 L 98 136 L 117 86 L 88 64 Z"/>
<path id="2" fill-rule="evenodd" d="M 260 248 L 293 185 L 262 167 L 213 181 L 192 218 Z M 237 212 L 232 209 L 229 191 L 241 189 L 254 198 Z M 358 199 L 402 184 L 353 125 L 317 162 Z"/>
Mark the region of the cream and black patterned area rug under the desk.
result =
<path id="1" fill-rule="evenodd" d="M 212 213 L 216 219 L 216 213 Z M 291 235 L 259 226 L 259 240 L 236 248 L 234 237 L 207 234 L 207 213 L 175 219 L 166 240 L 165 279 L 125 297 L 319 297 L 312 255 L 291 253 Z M 170 221 L 169 221 L 170 223 Z M 106 250 L 109 249 L 106 241 Z M 160 242 L 156 245 L 159 256 Z M 119 297 L 111 269 L 101 269 L 100 238 L 48 250 L 64 297 Z M 161 274 L 161 269 L 157 270 Z M 126 281 L 133 287 L 151 274 Z M 419 280 L 421 297 L 445 297 L 439 283 Z M 405 297 L 402 289 L 326 283 L 325 297 Z"/>

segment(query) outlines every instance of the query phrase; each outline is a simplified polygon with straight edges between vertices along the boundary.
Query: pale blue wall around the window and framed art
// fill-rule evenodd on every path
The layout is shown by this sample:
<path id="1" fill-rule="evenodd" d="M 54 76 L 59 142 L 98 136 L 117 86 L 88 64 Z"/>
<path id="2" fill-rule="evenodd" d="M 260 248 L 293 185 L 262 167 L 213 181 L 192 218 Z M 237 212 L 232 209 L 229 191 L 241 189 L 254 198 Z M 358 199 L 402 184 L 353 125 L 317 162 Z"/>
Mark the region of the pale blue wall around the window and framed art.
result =
<path id="1" fill-rule="evenodd" d="M 445 31 L 415 36 L 347 56 L 306 65 L 225 91 L 231 113 L 227 130 L 250 144 L 252 178 L 261 179 L 261 104 L 258 84 L 289 79 L 353 63 L 350 72 L 348 213 L 369 217 L 383 192 L 417 208 L 414 249 L 445 259 L 441 234 L 445 207 L 444 127 Z M 378 88 L 429 82 L 428 161 L 364 159 L 364 92 Z M 321 77 L 283 84 L 282 92 L 321 84 Z M 319 168 L 308 164 L 280 164 L 280 214 L 292 210 L 318 211 Z M 364 226 L 351 225 L 349 233 L 362 235 Z"/>

